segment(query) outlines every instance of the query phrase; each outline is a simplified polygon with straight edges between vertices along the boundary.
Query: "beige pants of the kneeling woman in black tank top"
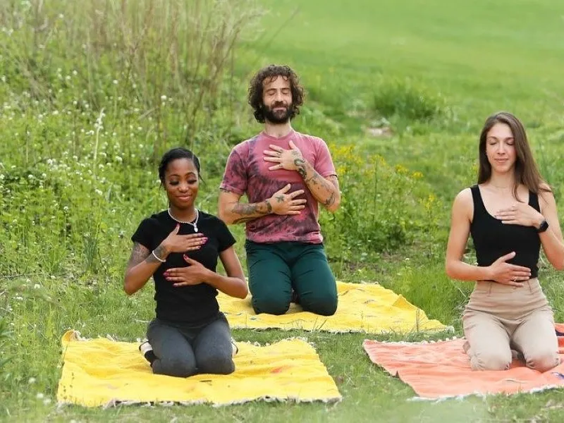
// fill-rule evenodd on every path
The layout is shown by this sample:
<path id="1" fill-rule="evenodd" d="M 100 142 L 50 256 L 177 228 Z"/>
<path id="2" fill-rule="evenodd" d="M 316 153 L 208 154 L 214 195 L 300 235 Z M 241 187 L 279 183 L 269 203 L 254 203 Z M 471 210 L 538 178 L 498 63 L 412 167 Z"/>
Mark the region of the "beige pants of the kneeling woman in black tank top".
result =
<path id="1" fill-rule="evenodd" d="M 537 278 L 521 287 L 477 282 L 462 322 L 474 370 L 508 369 L 512 350 L 540 372 L 560 363 L 552 309 Z"/>

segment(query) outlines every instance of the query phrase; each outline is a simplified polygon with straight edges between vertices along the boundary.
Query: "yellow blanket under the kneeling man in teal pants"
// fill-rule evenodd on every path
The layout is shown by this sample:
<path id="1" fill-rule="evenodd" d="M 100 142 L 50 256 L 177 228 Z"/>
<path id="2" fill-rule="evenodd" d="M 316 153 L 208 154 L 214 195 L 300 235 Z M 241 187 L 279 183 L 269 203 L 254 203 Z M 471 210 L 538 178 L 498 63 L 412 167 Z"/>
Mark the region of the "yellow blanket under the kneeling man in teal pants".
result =
<path id="1" fill-rule="evenodd" d="M 337 283 L 338 308 L 325 317 L 302 311 L 290 305 L 282 316 L 255 314 L 250 295 L 245 300 L 220 293 L 219 308 L 232 328 L 239 329 L 304 329 L 306 331 L 408 333 L 452 330 L 438 320 L 429 320 L 422 309 L 415 307 L 392 290 L 377 284 Z"/>

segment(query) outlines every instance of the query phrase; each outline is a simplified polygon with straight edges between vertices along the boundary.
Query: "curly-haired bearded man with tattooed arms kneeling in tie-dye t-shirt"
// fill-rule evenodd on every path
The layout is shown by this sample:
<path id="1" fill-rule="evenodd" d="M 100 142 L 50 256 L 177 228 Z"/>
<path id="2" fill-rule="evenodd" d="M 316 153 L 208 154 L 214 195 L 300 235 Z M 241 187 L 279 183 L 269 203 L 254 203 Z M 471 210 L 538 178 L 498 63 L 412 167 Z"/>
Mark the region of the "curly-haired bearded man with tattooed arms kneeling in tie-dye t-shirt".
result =
<path id="1" fill-rule="evenodd" d="M 290 124 L 303 99 L 298 76 L 288 66 L 266 66 L 252 78 L 249 104 L 264 128 L 233 147 L 220 185 L 220 218 L 246 225 L 257 314 L 284 314 L 292 301 L 324 316 L 337 309 L 318 215 L 319 204 L 335 212 L 341 194 L 324 140 Z M 248 202 L 240 202 L 243 195 Z"/>

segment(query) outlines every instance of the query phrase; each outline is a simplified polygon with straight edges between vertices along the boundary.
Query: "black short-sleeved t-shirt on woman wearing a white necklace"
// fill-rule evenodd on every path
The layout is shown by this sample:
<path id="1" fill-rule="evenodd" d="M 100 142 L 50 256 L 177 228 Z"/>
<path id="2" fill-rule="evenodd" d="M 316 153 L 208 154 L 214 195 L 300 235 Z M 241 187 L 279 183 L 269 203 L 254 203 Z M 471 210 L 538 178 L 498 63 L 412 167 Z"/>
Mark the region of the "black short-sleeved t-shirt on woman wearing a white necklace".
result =
<path id="1" fill-rule="evenodd" d="M 188 257 L 200 262 L 211 271 L 216 271 L 219 253 L 235 244 L 235 238 L 226 224 L 212 214 L 199 212 L 197 221 L 198 232 L 207 236 L 207 243 L 200 250 L 188 252 Z M 149 251 L 154 250 L 173 231 L 177 223 L 168 211 L 153 214 L 144 219 L 137 231 L 131 237 L 134 243 L 140 243 Z M 194 227 L 188 223 L 180 223 L 179 235 L 190 235 Z M 172 282 L 164 278 L 164 271 L 174 267 L 189 266 L 183 259 L 183 253 L 172 252 L 166 257 L 153 274 L 157 302 L 156 313 L 159 319 L 168 321 L 182 321 L 189 324 L 202 324 L 213 319 L 219 312 L 216 300 L 217 290 L 207 283 L 193 286 L 173 286 Z"/>

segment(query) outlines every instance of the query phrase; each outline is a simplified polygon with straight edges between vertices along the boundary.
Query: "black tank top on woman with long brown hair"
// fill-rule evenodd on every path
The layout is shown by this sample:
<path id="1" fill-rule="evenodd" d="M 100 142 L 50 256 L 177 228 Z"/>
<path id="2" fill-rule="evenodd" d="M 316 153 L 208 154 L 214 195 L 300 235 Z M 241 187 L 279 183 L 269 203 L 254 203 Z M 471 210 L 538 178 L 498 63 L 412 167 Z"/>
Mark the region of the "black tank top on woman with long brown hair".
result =
<path id="1" fill-rule="evenodd" d="M 508 263 L 531 269 L 531 278 L 539 272 L 541 240 L 537 229 L 532 226 L 508 225 L 491 216 L 484 206 L 478 185 L 472 186 L 474 217 L 470 233 L 476 247 L 478 266 L 489 266 L 499 257 L 515 251 L 515 257 Z M 529 206 L 540 212 L 539 196 L 529 191 Z"/>

